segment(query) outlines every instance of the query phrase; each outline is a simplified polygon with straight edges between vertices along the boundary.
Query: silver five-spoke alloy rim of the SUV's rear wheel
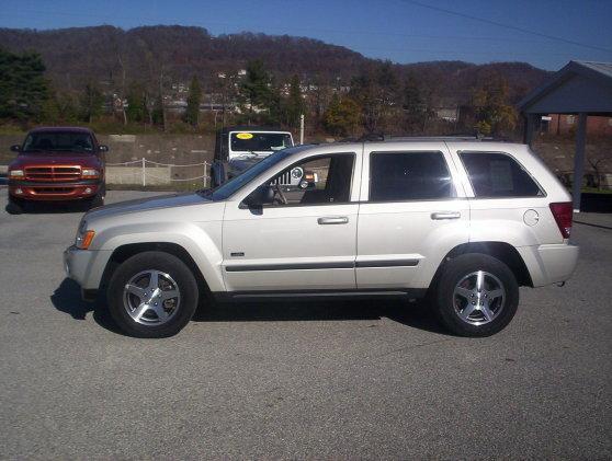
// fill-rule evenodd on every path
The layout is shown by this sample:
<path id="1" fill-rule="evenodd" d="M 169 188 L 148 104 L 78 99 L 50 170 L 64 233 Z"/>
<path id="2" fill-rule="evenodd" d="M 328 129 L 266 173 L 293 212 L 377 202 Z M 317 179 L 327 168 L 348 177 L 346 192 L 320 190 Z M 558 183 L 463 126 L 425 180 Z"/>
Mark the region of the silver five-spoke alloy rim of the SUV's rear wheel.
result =
<path id="1" fill-rule="evenodd" d="M 506 288 L 499 278 L 477 270 L 462 277 L 455 285 L 453 307 L 465 323 L 484 325 L 499 316 L 506 298 Z"/>

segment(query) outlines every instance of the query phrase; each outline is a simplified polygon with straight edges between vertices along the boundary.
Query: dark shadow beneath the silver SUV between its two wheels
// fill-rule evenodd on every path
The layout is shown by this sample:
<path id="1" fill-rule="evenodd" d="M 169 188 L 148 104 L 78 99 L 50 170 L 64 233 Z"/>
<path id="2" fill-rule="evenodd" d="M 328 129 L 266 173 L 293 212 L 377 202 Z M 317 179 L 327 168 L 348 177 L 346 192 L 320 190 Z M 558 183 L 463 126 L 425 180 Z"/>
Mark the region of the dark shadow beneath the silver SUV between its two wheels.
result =
<path id="1" fill-rule="evenodd" d="M 383 318 L 406 326 L 449 334 L 440 326 L 429 304 L 407 300 L 314 301 L 286 299 L 269 302 L 202 303 L 194 322 L 303 322 L 345 321 Z M 372 325 L 376 326 L 376 325 Z"/>

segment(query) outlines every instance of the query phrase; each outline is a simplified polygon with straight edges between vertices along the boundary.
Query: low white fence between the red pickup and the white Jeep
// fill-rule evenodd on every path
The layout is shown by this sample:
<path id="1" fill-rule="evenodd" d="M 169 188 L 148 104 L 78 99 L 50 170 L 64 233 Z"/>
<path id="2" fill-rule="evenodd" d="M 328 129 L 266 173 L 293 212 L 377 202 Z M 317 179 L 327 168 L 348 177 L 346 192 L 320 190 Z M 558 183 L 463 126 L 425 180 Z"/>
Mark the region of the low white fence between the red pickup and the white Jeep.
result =
<path id="1" fill-rule="evenodd" d="M 150 166 L 147 168 L 147 165 Z M 106 166 L 125 168 L 125 170 L 127 171 L 122 172 L 122 174 L 134 177 L 135 181 L 133 182 L 133 184 L 141 184 L 143 186 L 147 185 L 147 178 L 149 178 L 149 183 L 155 183 L 155 184 L 201 181 L 202 185 L 206 187 L 209 184 L 209 178 L 211 178 L 209 176 L 211 163 L 208 162 L 178 165 L 174 163 L 154 162 L 152 160 L 147 160 L 146 158 L 143 157 L 140 160 L 133 160 L 131 162 L 106 163 Z M 156 170 L 159 170 L 160 168 L 165 168 L 167 171 L 169 171 L 169 174 L 166 177 L 156 174 L 157 173 Z M 191 169 L 202 168 L 202 175 L 193 176 L 193 177 L 172 177 L 172 169 L 177 169 L 177 168 L 191 168 Z"/>

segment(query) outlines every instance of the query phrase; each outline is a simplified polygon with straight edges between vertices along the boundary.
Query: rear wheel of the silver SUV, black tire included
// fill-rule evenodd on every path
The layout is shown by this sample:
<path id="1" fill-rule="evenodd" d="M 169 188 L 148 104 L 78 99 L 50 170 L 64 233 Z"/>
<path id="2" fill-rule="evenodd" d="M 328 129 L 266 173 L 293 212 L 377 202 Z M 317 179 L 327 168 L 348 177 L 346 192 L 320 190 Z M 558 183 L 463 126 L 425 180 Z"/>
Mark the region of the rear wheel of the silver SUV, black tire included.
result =
<path id="1" fill-rule="evenodd" d="M 490 284 L 495 285 L 499 281 L 502 285 L 503 298 L 498 298 L 491 301 L 491 304 L 486 304 L 491 307 L 491 310 L 487 311 L 489 314 L 494 312 L 494 309 L 499 309 L 495 316 L 491 315 L 492 320 L 488 320 L 480 308 L 467 306 L 478 306 L 477 298 L 471 298 L 474 299 L 473 301 L 461 295 L 455 295 L 457 284 L 465 280 L 465 284 L 468 285 L 469 279 L 466 279 L 466 277 L 479 270 L 488 273 L 487 277 Z M 496 278 L 497 280 L 495 280 Z M 510 323 L 519 306 L 519 285 L 514 274 L 501 261 L 486 254 L 468 253 L 445 263 L 434 290 L 432 299 L 438 318 L 446 329 L 460 336 L 483 337 L 500 332 Z M 476 287 L 474 287 L 474 290 L 476 290 Z M 484 288 L 483 292 L 486 293 L 486 290 Z M 484 295 L 481 296 L 484 297 Z M 488 302 L 488 300 L 483 298 L 480 302 Z M 461 309 L 462 307 L 464 308 Z M 467 315 L 467 320 L 460 314 L 466 312 L 464 309 L 468 309 L 467 312 L 475 309 L 472 314 Z M 475 324 L 478 322 L 483 323 Z"/>

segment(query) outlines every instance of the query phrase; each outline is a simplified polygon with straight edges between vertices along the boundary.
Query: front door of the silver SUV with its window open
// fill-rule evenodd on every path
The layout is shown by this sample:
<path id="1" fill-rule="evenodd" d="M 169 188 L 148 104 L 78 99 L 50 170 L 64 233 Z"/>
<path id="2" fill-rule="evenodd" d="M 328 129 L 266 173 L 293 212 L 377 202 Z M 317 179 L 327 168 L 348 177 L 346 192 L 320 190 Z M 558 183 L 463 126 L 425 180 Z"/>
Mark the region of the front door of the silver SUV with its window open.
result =
<path id="1" fill-rule="evenodd" d="M 303 165 L 318 171 L 317 185 L 285 191 L 287 204 L 243 205 L 258 186 L 279 184 L 281 175 Z M 222 266 L 227 291 L 354 289 L 361 152 L 318 149 L 265 174 L 226 204 Z"/>

